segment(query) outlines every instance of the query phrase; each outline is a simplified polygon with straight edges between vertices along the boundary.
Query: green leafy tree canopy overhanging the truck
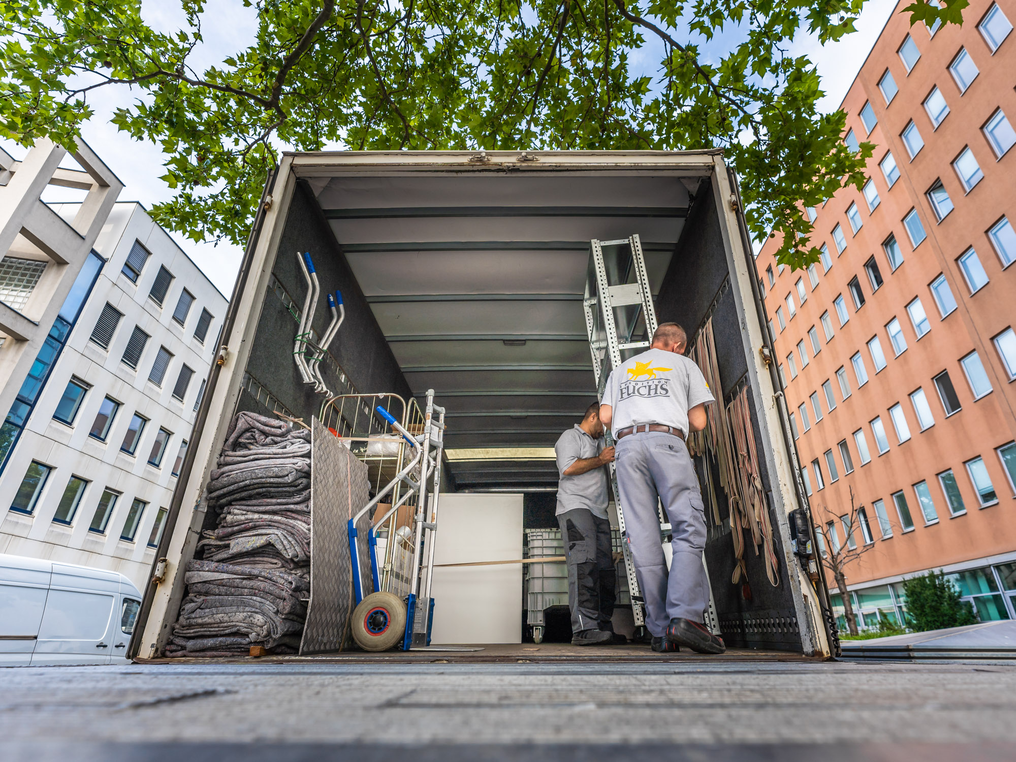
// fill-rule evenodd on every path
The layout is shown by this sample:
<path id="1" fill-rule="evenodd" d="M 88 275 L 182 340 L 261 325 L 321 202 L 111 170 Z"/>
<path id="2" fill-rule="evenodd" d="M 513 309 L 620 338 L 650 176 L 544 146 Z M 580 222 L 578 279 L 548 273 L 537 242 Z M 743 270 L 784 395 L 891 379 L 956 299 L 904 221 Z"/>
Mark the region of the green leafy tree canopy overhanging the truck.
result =
<path id="1" fill-rule="evenodd" d="M 0 135 L 71 146 L 100 87 L 136 88 L 117 127 L 168 154 L 152 209 L 195 240 L 242 244 L 280 144 L 356 149 L 721 147 L 749 227 L 779 261 L 818 257 L 813 206 L 861 187 L 862 143 L 822 114 L 790 55 L 854 29 L 865 0 L 244 0 L 255 39 L 203 71 L 204 0 L 153 30 L 140 0 L 0 0 Z M 915 0 L 911 23 L 958 23 L 967 0 Z M 691 42 L 693 41 L 693 42 Z M 722 48 L 717 55 L 712 48 Z M 708 48 L 708 51 L 706 50 Z M 661 51 L 654 72 L 636 59 Z"/>

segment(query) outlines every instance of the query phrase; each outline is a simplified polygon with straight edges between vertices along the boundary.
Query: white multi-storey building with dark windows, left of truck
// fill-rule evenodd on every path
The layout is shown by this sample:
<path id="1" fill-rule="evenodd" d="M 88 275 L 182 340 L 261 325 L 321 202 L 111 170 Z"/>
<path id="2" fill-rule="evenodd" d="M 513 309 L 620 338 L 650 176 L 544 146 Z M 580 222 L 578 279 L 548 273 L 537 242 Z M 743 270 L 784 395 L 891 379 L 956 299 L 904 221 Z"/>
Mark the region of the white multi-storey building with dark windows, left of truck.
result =
<path id="1" fill-rule="evenodd" d="M 64 219 L 78 207 L 52 205 Z M 140 204 L 113 207 L 94 251 L 60 311 L 69 327 L 57 319 L 7 419 L 21 405 L 0 466 L 0 553 L 143 589 L 228 300 Z"/>

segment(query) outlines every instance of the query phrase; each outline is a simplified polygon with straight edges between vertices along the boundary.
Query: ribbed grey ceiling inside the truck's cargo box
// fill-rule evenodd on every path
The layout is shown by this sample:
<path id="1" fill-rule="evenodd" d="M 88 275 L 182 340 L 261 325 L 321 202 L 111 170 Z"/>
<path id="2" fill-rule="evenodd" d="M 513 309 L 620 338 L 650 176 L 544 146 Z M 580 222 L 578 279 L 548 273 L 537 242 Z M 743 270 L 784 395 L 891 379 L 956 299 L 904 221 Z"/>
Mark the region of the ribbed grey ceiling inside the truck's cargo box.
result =
<path id="1" fill-rule="evenodd" d="M 433 388 L 448 408 L 450 489 L 557 489 L 546 457 L 454 450 L 553 447 L 581 420 L 596 398 L 589 240 L 638 233 L 655 295 L 702 177 L 533 168 L 309 181 L 414 394 Z"/>

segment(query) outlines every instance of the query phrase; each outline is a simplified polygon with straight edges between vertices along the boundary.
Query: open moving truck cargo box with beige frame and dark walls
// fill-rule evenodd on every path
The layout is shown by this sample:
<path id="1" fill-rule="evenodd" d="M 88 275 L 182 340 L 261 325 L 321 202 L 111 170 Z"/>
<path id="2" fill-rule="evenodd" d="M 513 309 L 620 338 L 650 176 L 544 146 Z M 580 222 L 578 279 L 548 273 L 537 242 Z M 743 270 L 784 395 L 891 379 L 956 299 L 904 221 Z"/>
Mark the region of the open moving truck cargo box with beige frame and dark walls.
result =
<path id="1" fill-rule="evenodd" d="M 308 293 L 300 253 L 310 253 L 322 291 L 344 299 L 320 364 L 324 384 L 406 400 L 434 389 L 447 409 L 442 489 L 526 493 L 555 489 L 547 449 L 596 396 L 582 302 L 589 242 L 634 234 L 656 318 L 685 326 L 690 343 L 708 325 L 723 387 L 713 392 L 744 400 L 754 436 L 760 511 L 772 527 L 768 573 L 765 551 L 739 528 L 747 547 L 738 578 L 717 466 L 696 459 L 722 635 L 734 647 L 835 652 L 825 583 L 814 558 L 810 575 L 795 555 L 807 543 L 791 543 L 790 519 L 805 531 L 811 520 L 791 515 L 807 498 L 721 154 L 348 151 L 287 153 L 265 188 L 132 655 L 160 656 L 171 636 L 184 568 L 214 525 L 201 495 L 233 417 L 320 416 L 324 397 L 294 363 Z M 323 335 L 330 320 L 321 299 L 308 333 Z M 440 611 L 438 601 L 435 619 Z"/>

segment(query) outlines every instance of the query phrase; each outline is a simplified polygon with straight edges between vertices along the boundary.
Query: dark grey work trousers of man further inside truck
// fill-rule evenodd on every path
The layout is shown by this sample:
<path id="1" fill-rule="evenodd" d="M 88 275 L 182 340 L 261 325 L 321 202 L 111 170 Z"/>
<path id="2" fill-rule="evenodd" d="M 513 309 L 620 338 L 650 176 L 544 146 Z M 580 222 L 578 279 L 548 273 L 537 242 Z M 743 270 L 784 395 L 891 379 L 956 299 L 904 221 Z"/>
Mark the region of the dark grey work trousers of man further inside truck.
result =
<path id="1" fill-rule="evenodd" d="M 568 608 L 572 634 L 582 630 L 613 631 L 618 574 L 611 553 L 611 522 L 586 508 L 558 516 L 568 556 Z"/>

